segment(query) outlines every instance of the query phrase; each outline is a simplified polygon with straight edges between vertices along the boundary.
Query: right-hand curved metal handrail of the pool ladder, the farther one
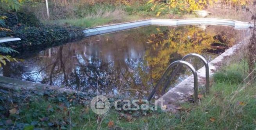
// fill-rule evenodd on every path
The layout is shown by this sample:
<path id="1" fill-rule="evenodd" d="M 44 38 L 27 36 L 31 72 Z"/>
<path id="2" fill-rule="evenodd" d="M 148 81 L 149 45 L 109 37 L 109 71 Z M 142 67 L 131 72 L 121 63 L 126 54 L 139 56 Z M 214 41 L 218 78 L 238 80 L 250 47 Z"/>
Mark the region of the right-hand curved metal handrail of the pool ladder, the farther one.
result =
<path id="1" fill-rule="evenodd" d="M 181 59 L 181 61 L 185 61 L 186 59 L 188 59 L 188 57 L 197 57 L 197 58 L 201 59 L 201 61 L 204 62 L 204 66 L 205 66 L 205 69 L 206 69 L 206 93 L 209 94 L 209 65 L 208 65 L 207 60 L 202 55 L 199 55 L 197 53 L 190 53 L 188 55 L 185 55 Z M 168 81 L 166 82 L 164 88 L 162 89 L 162 94 L 165 93 L 165 90 L 168 87 L 168 84 L 170 84 L 170 82 L 172 81 L 172 79 L 174 78 L 174 76 L 176 75 L 176 73 L 179 71 L 180 68 L 181 68 L 181 65 L 179 65 L 174 70 L 174 72 L 171 74 L 170 78 L 168 79 Z"/>

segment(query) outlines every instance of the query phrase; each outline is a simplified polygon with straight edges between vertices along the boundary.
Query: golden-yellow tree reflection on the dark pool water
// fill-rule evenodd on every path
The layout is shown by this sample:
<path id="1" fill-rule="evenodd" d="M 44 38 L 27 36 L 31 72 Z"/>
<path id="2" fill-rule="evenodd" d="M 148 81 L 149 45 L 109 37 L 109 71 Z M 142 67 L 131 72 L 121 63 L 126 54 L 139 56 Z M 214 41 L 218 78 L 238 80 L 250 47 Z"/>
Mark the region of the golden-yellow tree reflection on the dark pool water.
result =
<path id="1" fill-rule="evenodd" d="M 163 37 L 161 32 L 157 35 Z M 171 28 L 164 35 L 165 38 L 162 41 L 150 43 L 150 49 L 146 50 L 145 60 L 147 66 L 151 68 L 151 73 L 146 79 L 159 80 L 170 61 L 176 59 L 177 56 L 182 58 L 188 53 L 200 54 L 204 49 L 210 48 L 211 43 L 215 42 L 215 39 L 213 39 L 215 34 L 207 33 L 195 27 Z M 154 39 L 156 37 L 149 40 L 154 41 Z"/>

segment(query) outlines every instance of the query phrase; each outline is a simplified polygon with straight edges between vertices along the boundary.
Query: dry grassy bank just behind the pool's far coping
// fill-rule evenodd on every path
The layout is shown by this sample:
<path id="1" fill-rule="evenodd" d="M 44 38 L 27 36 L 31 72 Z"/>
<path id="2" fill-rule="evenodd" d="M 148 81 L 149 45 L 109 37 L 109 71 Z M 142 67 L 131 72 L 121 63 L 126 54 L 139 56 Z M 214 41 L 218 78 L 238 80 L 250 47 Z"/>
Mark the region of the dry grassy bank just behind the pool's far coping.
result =
<path id="1" fill-rule="evenodd" d="M 71 25 L 87 28 L 148 18 L 167 18 L 167 15 L 157 17 L 157 12 L 150 10 L 152 6 L 152 4 L 138 3 L 119 6 L 109 4 L 80 5 L 73 7 L 74 11 L 67 14 L 64 18 L 55 19 L 55 14 L 52 12 L 52 17 L 54 17 L 52 20 L 41 19 L 41 21 L 43 21 L 44 24 Z M 56 13 L 58 14 L 56 15 L 59 16 L 59 12 Z M 70 14 L 72 14 L 72 16 L 69 16 Z M 64 14 L 61 16 L 63 15 Z"/>

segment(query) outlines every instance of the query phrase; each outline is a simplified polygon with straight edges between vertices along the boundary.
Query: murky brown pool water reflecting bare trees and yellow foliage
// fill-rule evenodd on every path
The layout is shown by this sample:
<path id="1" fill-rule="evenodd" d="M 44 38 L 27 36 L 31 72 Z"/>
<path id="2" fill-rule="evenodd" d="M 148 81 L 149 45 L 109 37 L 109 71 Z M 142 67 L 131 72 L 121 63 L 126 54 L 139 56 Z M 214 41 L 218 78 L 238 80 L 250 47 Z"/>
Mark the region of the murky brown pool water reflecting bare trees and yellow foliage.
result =
<path id="1" fill-rule="evenodd" d="M 79 91 L 145 97 L 171 62 L 188 53 L 202 54 L 211 61 L 217 55 L 205 52 L 224 52 L 236 42 L 238 33 L 220 26 L 206 30 L 195 26 L 135 28 L 22 57 L 23 63 L 8 63 L 1 75 Z M 203 66 L 197 59 L 188 61 L 196 69 Z M 170 86 L 191 74 L 183 68 Z"/>

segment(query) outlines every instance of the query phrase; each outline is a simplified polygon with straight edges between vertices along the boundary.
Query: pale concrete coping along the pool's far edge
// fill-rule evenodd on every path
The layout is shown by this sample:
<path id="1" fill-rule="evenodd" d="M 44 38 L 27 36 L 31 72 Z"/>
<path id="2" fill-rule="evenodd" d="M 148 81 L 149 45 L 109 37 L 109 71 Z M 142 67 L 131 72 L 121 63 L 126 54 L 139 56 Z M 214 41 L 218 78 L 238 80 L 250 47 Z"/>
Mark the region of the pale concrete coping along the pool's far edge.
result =
<path id="1" fill-rule="evenodd" d="M 111 32 L 118 32 L 131 28 L 158 25 L 158 26 L 183 26 L 183 25 L 220 25 L 234 27 L 234 29 L 248 29 L 253 27 L 252 23 L 242 22 L 236 20 L 218 19 L 218 18 L 190 18 L 190 19 L 148 19 L 138 20 L 125 23 L 117 23 L 111 25 L 98 26 L 93 28 L 86 28 L 83 30 L 86 37 L 107 34 Z"/>

